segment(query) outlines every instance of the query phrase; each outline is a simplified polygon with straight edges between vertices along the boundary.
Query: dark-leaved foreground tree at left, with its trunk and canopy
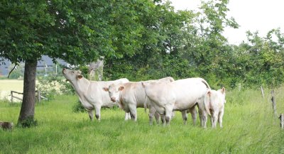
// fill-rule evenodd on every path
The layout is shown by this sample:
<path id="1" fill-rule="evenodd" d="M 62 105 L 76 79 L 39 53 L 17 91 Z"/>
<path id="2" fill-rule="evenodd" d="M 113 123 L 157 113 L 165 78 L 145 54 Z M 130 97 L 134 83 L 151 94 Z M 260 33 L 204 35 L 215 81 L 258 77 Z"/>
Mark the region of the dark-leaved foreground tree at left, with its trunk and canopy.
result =
<path id="1" fill-rule="evenodd" d="M 119 1 L 59 0 L 0 2 L 0 57 L 25 62 L 23 104 L 18 124 L 34 121 L 35 73 L 41 55 L 72 65 L 96 61 L 100 55 L 121 56 L 113 42 L 119 26 L 111 26 Z M 131 24 L 129 25 L 131 26 Z M 129 29 L 129 34 L 136 29 Z M 121 38 L 133 43 L 134 40 Z M 135 45 L 135 43 L 133 43 Z M 121 50 L 131 53 L 133 50 Z"/>

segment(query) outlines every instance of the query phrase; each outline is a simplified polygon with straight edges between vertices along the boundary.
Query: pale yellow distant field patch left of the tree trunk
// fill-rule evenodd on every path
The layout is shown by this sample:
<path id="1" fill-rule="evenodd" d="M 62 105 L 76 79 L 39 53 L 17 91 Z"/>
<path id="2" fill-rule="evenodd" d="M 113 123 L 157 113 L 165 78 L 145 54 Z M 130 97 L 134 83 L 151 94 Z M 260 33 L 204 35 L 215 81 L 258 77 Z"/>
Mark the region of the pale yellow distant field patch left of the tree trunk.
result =
<path id="1" fill-rule="evenodd" d="M 18 79 L 0 79 L 0 99 L 11 99 L 9 94 L 11 90 L 23 92 L 23 80 Z M 18 97 L 22 97 L 18 95 Z"/>

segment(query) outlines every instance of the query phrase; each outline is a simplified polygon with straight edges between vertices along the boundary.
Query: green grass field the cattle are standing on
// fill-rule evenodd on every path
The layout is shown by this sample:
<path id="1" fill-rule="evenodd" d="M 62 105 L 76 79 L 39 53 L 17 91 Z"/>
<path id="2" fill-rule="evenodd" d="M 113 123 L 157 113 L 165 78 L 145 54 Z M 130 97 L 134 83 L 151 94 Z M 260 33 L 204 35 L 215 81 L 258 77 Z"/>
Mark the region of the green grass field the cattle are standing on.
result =
<path id="1" fill-rule="evenodd" d="M 284 112 L 283 89 L 276 91 L 278 114 Z M 268 91 L 266 92 L 268 94 Z M 170 126 L 124 121 L 120 109 L 103 109 L 102 120 L 74 113 L 77 96 L 55 97 L 35 106 L 34 128 L 0 130 L 0 153 L 284 153 L 284 130 L 273 117 L 270 96 L 261 92 L 227 92 L 224 128 L 182 124 L 177 112 Z M 0 102 L 0 120 L 17 122 L 20 104 Z M 189 115 L 190 117 L 190 115 Z M 211 124 L 208 122 L 208 126 Z"/>

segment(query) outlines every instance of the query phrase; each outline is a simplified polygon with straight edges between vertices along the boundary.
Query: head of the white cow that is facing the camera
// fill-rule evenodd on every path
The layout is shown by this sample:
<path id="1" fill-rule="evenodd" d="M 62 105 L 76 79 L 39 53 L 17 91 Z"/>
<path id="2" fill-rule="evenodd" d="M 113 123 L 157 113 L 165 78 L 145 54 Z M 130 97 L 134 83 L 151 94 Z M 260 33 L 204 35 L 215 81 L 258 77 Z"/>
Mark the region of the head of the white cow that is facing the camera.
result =
<path id="1" fill-rule="evenodd" d="M 111 84 L 109 87 L 104 87 L 104 91 L 109 92 L 109 98 L 113 102 L 119 102 L 119 92 L 124 90 L 124 86 L 121 84 Z"/>

